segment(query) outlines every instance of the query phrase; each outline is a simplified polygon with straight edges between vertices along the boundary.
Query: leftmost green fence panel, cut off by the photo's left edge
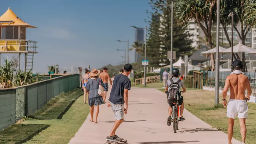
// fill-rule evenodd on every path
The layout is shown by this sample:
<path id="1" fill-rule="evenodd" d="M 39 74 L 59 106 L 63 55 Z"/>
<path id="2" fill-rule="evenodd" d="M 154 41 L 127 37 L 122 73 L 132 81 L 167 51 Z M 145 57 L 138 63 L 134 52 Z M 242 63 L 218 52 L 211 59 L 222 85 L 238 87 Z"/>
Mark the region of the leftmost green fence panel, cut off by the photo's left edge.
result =
<path id="1" fill-rule="evenodd" d="M 15 123 L 16 89 L 0 90 L 0 130 Z"/>

